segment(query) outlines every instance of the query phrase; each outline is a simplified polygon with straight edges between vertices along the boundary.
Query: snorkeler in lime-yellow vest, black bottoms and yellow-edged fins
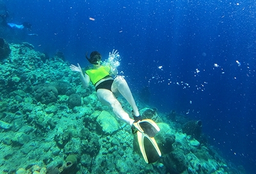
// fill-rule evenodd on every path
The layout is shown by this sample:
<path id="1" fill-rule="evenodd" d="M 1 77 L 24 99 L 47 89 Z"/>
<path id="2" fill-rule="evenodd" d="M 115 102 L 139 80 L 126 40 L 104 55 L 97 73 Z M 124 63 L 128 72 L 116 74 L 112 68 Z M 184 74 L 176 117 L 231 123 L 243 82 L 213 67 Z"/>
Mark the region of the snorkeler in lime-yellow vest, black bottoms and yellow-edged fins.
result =
<path id="1" fill-rule="evenodd" d="M 117 50 L 109 54 L 109 61 L 118 56 Z M 158 125 L 151 119 L 142 119 L 135 103 L 131 90 L 122 76 L 112 77 L 114 74 L 111 64 L 101 65 L 101 55 L 93 51 L 90 58 L 86 55 L 88 61 L 93 64 L 93 68 L 83 74 L 81 67 L 73 64 L 70 66 L 72 71 L 78 72 L 83 88 L 88 88 L 90 81 L 96 88 L 98 100 L 103 104 L 112 107 L 114 114 L 120 120 L 132 127 L 132 132 L 137 133 L 141 154 L 146 163 L 156 162 L 161 157 L 161 152 L 154 139 L 154 136 L 160 131 Z M 130 118 L 120 102 L 117 100 L 118 94 L 121 94 L 133 108 L 133 118 Z"/>

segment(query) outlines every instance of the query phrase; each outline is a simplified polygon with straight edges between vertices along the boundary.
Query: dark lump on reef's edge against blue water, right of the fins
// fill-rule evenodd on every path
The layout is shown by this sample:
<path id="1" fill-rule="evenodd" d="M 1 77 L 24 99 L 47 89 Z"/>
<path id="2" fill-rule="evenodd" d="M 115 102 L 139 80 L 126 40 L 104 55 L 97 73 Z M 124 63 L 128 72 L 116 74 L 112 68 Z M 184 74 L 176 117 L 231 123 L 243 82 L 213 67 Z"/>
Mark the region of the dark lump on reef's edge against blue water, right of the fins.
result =
<path id="1" fill-rule="evenodd" d="M 189 121 L 182 127 L 182 132 L 186 135 L 191 135 L 194 138 L 199 138 L 202 132 L 202 121 L 201 120 L 193 120 Z"/>

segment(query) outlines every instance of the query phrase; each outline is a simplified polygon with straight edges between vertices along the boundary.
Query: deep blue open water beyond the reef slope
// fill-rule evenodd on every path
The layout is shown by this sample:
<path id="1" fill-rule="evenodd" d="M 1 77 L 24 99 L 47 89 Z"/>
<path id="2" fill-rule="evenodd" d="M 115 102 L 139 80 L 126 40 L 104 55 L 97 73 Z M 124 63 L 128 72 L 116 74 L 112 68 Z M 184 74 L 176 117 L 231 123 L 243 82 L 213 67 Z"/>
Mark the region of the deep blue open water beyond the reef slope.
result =
<path id="1" fill-rule="evenodd" d="M 150 105 L 203 122 L 223 156 L 256 171 L 255 1 L 6 0 L 28 21 L 35 50 L 89 66 L 86 52 L 121 55 L 119 74 Z M 122 73 L 123 72 L 123 73 Z M 136 98 L 136 96 L 135 96 Z"/>

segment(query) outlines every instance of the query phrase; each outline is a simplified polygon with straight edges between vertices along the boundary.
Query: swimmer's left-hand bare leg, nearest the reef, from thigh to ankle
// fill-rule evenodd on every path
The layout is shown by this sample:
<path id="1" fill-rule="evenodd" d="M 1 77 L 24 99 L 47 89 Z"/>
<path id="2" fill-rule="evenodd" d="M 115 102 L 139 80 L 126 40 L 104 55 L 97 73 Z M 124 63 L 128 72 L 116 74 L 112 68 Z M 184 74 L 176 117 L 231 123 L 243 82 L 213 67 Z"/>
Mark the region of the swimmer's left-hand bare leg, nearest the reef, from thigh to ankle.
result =
<path id="1" fill-rule="evenodd" d="M 122 121 L 126 122 L 127 124 L 131 125 L 133 124 L 134 120 L 131 119 L 129 117 L 129 114 L 127 114 L 121 104 L 119 103 L 119 101 L 116 99 L 116 97 L 114 96 L 114 94 L 109 91 L 109 90 L 105 90 L 105 89 L 98 89 L 97 91 L 97 97 L 99 99 L 99 101 L 106 105 L 106 106 L 110 106 L 113 109 L 114 114 L 121 119 Z"/>

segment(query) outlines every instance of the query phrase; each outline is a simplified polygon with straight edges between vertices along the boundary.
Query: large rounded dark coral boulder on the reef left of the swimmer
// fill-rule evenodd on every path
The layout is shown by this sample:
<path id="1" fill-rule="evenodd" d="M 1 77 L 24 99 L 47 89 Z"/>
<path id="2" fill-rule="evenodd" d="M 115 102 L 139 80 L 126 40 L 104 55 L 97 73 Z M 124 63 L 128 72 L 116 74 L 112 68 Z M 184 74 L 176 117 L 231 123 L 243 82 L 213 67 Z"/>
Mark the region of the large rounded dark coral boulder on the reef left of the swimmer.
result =
<path id="1" fill-rule="evenodd" d="M 57 101 L 58 91 L 50 83 L 39 84 L 34 87 L 34 96 L 42 104 L 49 104 Z"/>

